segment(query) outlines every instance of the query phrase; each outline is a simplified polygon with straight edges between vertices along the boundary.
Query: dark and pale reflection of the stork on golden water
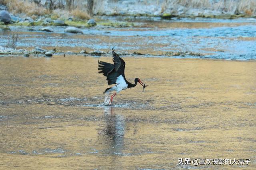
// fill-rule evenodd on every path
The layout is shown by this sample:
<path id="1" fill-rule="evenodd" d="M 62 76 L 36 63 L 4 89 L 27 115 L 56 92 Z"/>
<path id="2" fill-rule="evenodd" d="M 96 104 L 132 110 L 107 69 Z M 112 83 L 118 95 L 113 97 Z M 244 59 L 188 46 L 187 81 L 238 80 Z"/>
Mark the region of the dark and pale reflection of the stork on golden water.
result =
<path id="1" fill-rule="evenodd" d="M 125 133 L 125 120 L 122 115 L 114 113 L 112 107 L 105 107 L 104 117 L 106 122 L 106 127 L 103 128 L 102 132 L 106 141 L 109 142 L 110 150 L 113 153 L 121 153 L 124 133 Z"/>

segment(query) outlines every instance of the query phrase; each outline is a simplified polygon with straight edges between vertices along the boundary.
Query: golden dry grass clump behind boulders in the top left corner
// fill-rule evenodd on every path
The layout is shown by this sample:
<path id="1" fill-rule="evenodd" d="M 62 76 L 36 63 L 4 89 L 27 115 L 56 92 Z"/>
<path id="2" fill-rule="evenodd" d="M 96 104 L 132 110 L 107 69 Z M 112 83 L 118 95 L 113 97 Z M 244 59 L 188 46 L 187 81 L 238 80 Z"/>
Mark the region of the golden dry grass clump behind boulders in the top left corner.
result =
<path id="1" fill-rule="evenodd" d="M 26 14 L 27 16 L 43 16 L 50 14 L 46 8 L 38 6 L 34 2 L 28 0 L 2 0 L 6 4 L 8 10 L 13 14 Z"/>

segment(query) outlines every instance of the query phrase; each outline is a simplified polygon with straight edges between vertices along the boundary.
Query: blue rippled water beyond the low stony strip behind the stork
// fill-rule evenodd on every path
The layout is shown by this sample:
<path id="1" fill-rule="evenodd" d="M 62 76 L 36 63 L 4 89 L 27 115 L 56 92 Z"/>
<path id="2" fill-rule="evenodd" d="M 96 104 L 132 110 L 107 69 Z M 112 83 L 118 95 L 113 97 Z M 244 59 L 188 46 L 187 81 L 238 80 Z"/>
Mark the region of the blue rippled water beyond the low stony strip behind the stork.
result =
<path id="1" fill-rule="evenodd" d="M 109 18 L 114 20 L 112 18 Z M 133 20 L 132 20 L 133 21 Z M 198 55 L 173 58 L 256 59 L 256 20 L 157 20 L 133 21 L 134 27 L 116 28 L 98 25 L 81 28 L 84 35 L 64 33 L 65 27 L 53 27 L 54 33 L 38 31 L 42 26 L 11 26 L 0 31 L 0 45 L 8 42 L 10 32 L 18 33 L 18 48 L 56 48 L 57 51 L 109 51 L 148 54 L 147 57 L 167 57 L 170 52 L 192 52 Z"/>

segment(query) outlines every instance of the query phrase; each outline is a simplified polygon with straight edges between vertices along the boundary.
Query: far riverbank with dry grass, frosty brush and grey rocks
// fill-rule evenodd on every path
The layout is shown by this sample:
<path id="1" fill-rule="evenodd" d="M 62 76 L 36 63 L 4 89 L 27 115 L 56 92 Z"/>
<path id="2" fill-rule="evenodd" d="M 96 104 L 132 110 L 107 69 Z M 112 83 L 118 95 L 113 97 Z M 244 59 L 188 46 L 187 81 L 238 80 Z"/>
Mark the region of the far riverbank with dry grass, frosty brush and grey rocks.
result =
<path id="1" fill-rule="evenodd" d="M 23 3 L 24 2 L 24 3 Z M 2 3 L 2 5 L 1 5 Z M 87 14 L 87 1 L 73 0 L 23 0 L 0 2 L 0 21 L 15 25 L 71 25 L 90 27 L 96 25 Z M 72 6 L 72 9 L 71 7 Z M 172 18 L 255 18 L 256 2 L 248 0 L 202 0 L 184 3 L 177 0 L 94 0 L 93 18 L 97 16 Z M 110 24 L 115 25 L 115 24 Z"/>

